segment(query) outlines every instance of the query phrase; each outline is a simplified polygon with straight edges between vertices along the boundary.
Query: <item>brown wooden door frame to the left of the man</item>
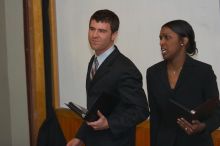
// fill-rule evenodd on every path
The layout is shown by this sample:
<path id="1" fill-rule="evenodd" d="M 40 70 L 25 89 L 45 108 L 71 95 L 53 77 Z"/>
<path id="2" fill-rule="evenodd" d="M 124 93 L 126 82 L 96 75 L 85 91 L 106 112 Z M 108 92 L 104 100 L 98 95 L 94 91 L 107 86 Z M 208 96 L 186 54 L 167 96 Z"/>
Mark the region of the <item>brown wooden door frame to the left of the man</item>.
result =
<path id="1" fill-rule="evenodd" d="M 25 60 L 27 76 L 30 144 L 36 146 L 38 130 L 46 118 L 45 70 L 42 0 L 23 0 Z M 51 38 L 51 77 L 53 106 L 59 107 L 58 53 L 56 36 L 55 0 L 49 0 Z"/>

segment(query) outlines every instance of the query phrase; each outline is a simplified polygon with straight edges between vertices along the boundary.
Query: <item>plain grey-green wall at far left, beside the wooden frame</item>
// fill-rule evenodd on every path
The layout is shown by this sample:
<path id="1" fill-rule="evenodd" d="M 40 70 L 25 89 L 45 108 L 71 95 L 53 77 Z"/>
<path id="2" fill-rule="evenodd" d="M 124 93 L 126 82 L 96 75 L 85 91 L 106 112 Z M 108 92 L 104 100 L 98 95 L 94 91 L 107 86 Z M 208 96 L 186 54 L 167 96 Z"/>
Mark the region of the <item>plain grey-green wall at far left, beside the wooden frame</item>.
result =
<path id="1" fill-rule="evenodd" d="M 0 1 L 0 143 L 29 146 L 23 1 Z"/>

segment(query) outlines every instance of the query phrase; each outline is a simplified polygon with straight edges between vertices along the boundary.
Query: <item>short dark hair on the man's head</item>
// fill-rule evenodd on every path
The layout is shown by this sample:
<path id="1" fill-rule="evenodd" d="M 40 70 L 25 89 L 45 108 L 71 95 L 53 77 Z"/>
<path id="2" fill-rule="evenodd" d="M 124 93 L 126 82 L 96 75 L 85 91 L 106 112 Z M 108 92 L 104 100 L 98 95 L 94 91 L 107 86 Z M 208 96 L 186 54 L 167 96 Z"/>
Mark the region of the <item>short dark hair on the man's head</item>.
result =
<path id="1" fill-rule="evenodd" d="M 119 18 L 114 12 L 110 10 L 104 9 L 104 10 L 96 11 L 91 16 L 89 24 L 91 23 L 92 20 L 95 20 L 96 22 L 109 23 L 111 26 L 112 33 L 118 31 L 119 23 L 120 23 Z"/>

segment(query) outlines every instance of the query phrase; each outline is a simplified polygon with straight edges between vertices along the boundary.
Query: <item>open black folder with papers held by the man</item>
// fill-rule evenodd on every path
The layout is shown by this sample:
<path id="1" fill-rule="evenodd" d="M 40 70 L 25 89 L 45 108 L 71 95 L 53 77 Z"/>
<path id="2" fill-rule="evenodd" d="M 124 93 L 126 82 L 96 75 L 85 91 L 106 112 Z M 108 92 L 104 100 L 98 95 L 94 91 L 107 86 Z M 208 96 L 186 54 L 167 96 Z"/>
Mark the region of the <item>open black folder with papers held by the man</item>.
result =
<path id="1" fill-rule="evenodd" d="M 90 109 L 86 109 L 73 102 L 65 103 L 72 111 L 78 114 L 86 121 L 92 122 L 98 119 L 97 111 L 99 110 L 106 117 L 110 115 L 114 107 L 116 106 L 116 99 L 107 93 L 102 93 L 94 102 Z"/>

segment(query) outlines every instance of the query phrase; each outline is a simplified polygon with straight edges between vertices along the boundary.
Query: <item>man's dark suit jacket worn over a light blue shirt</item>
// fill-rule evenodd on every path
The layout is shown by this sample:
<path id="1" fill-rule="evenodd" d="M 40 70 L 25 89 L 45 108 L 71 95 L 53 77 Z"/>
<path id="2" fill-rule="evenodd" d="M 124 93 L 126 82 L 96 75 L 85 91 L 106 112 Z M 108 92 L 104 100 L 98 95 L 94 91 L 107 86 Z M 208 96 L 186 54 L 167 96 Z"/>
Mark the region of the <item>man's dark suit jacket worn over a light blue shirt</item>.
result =
<path id="1" fill-rule="evenodd" d="M 112 94 L 117 106 L 106 117 L 109 129 L 95 131 L 83 123 L 76 137 L 83 140 L 86 146 L 134 146 L 136 125 L 149 115 L 141 73 L 115 46 L 91 80 L 93 59 L 94 56 L 88 65 L 86 79 L 87 108 L 102 92 Z"/>

